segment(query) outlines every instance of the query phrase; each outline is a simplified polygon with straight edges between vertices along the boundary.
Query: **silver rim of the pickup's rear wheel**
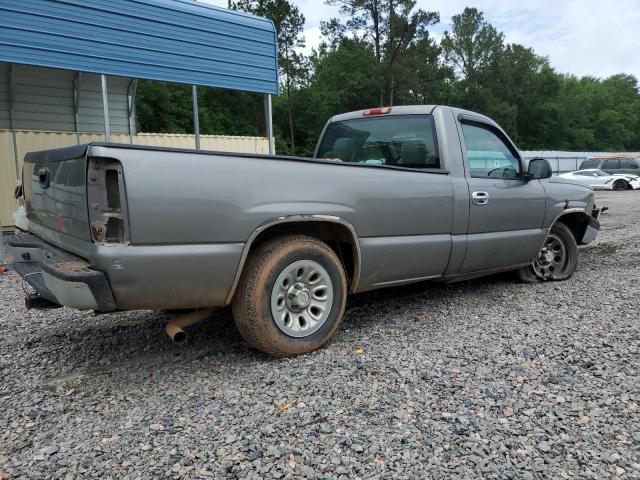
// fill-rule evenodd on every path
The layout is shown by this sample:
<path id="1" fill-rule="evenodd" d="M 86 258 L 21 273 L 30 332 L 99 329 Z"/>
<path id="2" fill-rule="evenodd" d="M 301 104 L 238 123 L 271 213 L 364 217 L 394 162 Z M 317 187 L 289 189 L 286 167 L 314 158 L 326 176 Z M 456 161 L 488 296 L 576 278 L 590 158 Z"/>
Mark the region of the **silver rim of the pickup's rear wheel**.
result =
<path id="1" fill-rule="evenodd" d="M 307 337 L 329 318 L 333 282 L 329 272 L 313 260 L 285 267 L 271 289 L 271 314 L 278 328 L 291 337 Z"/>

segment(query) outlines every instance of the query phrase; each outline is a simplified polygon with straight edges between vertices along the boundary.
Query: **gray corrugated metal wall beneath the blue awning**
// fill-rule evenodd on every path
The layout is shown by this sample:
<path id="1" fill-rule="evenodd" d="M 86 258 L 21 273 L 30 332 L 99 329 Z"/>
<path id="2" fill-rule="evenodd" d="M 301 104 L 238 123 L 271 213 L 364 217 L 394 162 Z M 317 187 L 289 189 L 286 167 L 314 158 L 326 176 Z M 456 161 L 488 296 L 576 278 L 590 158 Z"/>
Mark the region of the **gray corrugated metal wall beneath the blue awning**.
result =
<path id="1" fill-rule="evenodd" d="M 0 62 L 0 128 L 11 128 L 9 118 L 9 64 Z M 13 65 L 14 112 L 17 130 L 74 132 L 74 72 Z M 109 119 L 112 133 L 128 133 L 127 89 L 129 79 L 108 77 Z M 80 75 L 79 130 L 103 132 L 100 76 Z M 135 123 L 135 122 L 134 122 Z M 134 126 L 135 128 L 135 126 Z"/>

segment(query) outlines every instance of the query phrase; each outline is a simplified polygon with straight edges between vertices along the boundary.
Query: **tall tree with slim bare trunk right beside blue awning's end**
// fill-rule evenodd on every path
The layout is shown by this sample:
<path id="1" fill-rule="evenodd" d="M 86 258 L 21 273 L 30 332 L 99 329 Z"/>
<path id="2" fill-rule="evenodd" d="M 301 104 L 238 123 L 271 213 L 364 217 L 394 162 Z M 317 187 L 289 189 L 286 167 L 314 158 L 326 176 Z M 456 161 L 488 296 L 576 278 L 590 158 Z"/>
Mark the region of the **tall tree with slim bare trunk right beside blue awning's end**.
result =
<path id="1" fill-rule="evenodd" d="M 229 8 L 270 19 L 278 32 L 278 65 L 283 77 L 289 124 L 290 151 L 295 151 L 294 95 L 307 67 L 300 50 L 304 48 L 304 16 L 288 0 L 229 0 Z"/>

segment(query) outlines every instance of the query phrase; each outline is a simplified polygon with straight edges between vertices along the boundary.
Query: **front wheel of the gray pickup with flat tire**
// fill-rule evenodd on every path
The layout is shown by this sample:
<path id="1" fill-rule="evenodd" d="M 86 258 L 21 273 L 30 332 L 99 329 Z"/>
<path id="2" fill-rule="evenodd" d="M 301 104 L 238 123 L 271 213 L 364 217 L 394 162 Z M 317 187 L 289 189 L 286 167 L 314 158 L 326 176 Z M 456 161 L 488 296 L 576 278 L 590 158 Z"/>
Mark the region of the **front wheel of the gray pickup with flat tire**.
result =
<path id="1" fill-rule="evenodd" d="M 564 223 L 556 222 L 531 265 L 518 270 L 518 277 L 528 283 L 566 280 L 577 263 L 576 239 Z"/>

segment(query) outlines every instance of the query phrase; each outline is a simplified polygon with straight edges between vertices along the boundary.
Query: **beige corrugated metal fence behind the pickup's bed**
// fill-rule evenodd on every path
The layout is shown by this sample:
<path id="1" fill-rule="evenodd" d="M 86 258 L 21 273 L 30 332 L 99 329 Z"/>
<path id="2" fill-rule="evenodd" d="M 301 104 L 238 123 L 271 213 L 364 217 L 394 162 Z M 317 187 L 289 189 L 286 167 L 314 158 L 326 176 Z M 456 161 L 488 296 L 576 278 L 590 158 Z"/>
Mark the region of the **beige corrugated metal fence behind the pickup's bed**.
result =
<path id="1" fill-rule="evenodd" d="M 22 159 L 27 152 L 68 147 L 76 144 L 76 134 L 67 132 L 16 132 L 20 169 Z M 101 134 L 81 134 L 80 142 L 104 140 Z M 111 141 L 129 143 L 128 135 L 111 135 Z M 193 135 L 173 135 L 163 133 L 140 133 L 133 136 L 133 143 L 159 147 L 195 148 Z M 203 150 L 237 153 L 269 153 L 266 137 L 226 137 L 219 135 L 201 135 L 200 145 Z M 16 170 L 13 155 L 13 140 L 10 130 L 0 130 L 0 225 L 11 226 L 11 214 L 17 208 L 13 198 L 16 186 Z"/>

